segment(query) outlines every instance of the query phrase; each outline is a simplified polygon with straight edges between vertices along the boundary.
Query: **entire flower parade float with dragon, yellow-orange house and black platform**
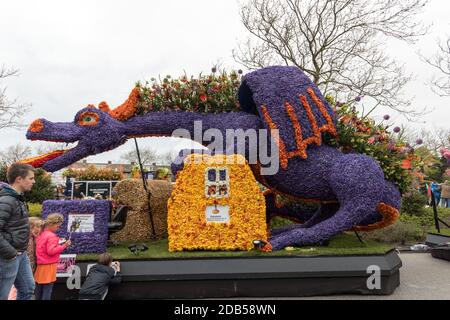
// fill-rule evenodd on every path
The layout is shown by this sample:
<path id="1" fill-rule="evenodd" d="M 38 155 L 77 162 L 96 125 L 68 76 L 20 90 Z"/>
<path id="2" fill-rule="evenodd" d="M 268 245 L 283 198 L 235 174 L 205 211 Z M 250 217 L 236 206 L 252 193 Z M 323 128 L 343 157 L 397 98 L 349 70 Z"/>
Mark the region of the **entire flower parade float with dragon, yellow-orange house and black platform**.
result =
<path id="1" fill-rule="evenodd" d="M 240 151 L 235 146 L 226 155 L 244 160 L 241 166 L 212 165 L 209 161 L 220 157 L 217 150 L 199 162 L 192 160 L 203 159 L 204 152 L 181 153 L 181 161 L 172 166 L 177 181 L 168 202 L 166 253 L 146 255 L 139 261 L 133 257 L 123 264 L 129 276 L 126 286 L 134 292 L 131 298 L 392 293 L 399 285 L 401 267 L 392 248 L 371 251 L 367 243 L 355 240 L 356 247 L 362 248 L 356 255 L 348 254 L 352 250 L 335 250 L 336 254 L 331 250 L 321 256 L 317 249 L 305 256 L 304 249 L 327 244 L 333 248 L 334 239 L 348 236 L 346 232 L 395 223 L 399 189 L 408 175 L 402 170 L 409 170 L 414 158 L 397 152 L 403 146 L 390 141 L 385 128 L 375 130 L 377 140 L 371 144 L 389 143 L 390 159 L 378 159 L 375 151 L 368 156 L 368 148 L 366 154 L 355 152 L 358 141 L 373 128 L 367 121 L 340 117 L 336 105 L 296 67 L 263 68 L 242 78 L 235 73 L 213 75 L 205 83 L 183 77 L 165 78 L 161 86 L 138 84 L 117 108 L 111 109 L 106 102 L 89 105 L 73 122 L 37 119 L 27 132 L 30 140 L 78 143 L 72 149 L 24 161 L 50 172 L 136 137 L 171 136 L 180 129 L 195 136 L 198 121 L 203 125 L 201 137 L 208 130 L 223 136 L 227 130 L 255 130 L 266 133 L 258 137 L 258 146 L 262 140 L 276 145 L 279 169 L 271 174 L 264 173 L 267 162 L 263 159 L 250 161 L 248 144 Z M 343 127 L 352 128 L 358 139 L 347 144 L 345 137 L 340 141 L 338 133 L 347 130 Z M 206 141 L 197 142 L 208 146 Z M 230 150 L 230 145 L 223 141 L 221 150 Z M 393 159 L 401 166 L 392 165 Z M 400 174 L 394 174 L 396 170 Z M 299 211 L 284 200 L 317 205 Z M 267 230 L 276 216 L 297 224 Z M 148 252 L 154 252 L 149 246 Z M 189 252 L 169 252 L 185 249 Z M 245 250 L 245 254 L 220 254 L 224 250 Z M 86 265 L 80 264 L 82 272 Z M 380 266 L 380 287 L 367 286 L 371 265 Z M 327 286 L 321 285 L 325 282 Z M 111 295 L 119 296 L 119 292 Z"/>

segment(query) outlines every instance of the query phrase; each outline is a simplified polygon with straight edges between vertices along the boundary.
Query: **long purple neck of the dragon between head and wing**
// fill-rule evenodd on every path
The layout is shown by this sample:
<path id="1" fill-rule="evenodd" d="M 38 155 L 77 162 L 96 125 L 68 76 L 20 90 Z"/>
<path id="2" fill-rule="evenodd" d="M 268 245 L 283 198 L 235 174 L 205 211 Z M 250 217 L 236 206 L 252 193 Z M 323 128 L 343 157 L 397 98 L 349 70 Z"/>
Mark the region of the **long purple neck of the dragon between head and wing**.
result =
<path id="1" fill-rule="evenodd" d="M 126 135 L 133 137 L 170 137 L 175 130 L 184 130 L 191 137 L 201 130 L 217 129 L 225 134 L 228 129 L 259 129 L 260 118 L 246 112 L 196 113 L 189 111 L 150 112 L 124 122 Z"/>

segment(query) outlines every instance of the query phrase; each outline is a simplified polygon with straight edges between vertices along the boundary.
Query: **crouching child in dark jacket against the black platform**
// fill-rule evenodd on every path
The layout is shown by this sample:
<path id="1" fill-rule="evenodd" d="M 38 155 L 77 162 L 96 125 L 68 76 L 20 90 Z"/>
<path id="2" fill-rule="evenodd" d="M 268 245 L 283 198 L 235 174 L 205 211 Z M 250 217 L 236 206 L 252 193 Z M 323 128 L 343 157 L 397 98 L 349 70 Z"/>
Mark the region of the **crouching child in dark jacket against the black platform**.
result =
<path id="1" fill-rule="evenodd" d="M 122 281 L 120 263 L 112 261 L 109 253 L 102 253 L 96 265 L 88 273 L 86 281 L 80 289 L 80 300 L 104 300 L 108 294 L 109 285 Z"/>

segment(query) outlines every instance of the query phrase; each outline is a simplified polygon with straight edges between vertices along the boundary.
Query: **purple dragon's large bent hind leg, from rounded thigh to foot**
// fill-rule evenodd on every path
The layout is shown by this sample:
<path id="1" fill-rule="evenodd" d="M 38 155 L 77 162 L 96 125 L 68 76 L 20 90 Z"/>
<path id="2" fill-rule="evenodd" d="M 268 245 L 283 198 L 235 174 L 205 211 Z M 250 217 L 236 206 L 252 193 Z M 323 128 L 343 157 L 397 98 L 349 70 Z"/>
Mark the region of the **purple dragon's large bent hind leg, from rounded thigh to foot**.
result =
<path id="1" fill-rule="evenodd" d="M 324 243 L 363 221 L 371 220 L 374 215 L 379 217 L 377 206 L 385 198 L 386 182 L 375 160 L 357 154 L 345 155 L 337 159 L 330 177 L 330 186 L 340 203 L 337 212 L 311 227 L 292 228 L 273 235 L 270 238 L 273 250 Z"/>

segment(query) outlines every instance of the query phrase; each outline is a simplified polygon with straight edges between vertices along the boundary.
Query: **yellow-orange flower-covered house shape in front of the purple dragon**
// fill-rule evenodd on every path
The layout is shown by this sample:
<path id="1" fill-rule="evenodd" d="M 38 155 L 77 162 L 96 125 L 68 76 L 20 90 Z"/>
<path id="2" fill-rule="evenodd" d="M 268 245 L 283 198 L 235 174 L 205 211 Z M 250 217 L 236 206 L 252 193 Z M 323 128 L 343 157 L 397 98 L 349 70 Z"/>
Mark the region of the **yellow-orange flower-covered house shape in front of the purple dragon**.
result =
<path id="1" fill-rule="evenodd" d="M 208 188 L 211 169 L 227 171 L 229 190 Z M 208 196 L 210 190 L 220 196 Z M 228 207 L 228 222 L 207 222 L 207 207 L 217 206 Z M 267 241 L 264 195 L 245 159 L 240 155 L 187 157 L 168 201 L 168 231 L 171 252 L 251 250 L 253 240 Z"/>

